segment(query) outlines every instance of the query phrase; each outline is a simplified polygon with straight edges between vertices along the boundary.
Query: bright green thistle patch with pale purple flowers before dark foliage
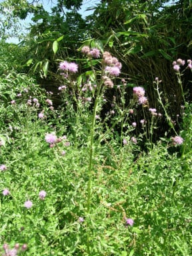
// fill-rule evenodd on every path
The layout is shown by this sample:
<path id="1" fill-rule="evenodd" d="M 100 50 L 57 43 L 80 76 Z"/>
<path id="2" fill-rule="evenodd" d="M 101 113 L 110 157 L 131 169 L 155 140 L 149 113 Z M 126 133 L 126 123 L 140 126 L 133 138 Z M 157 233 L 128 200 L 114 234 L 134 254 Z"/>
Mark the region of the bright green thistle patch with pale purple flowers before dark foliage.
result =
<path id="1" fill-rule="evenodd" d="M 82 51 L 87 73 L 76 79 L 75 63 L 59 65 L 57 109 L 27 75 L 1 76 L 1 254 L 191 255 L 191 105 L 173 122 L 154 78 L 163 111 L 142 87 L 127 107 L 121 63 Z M 161 118 L 169 129 L 153 142 Z"/>

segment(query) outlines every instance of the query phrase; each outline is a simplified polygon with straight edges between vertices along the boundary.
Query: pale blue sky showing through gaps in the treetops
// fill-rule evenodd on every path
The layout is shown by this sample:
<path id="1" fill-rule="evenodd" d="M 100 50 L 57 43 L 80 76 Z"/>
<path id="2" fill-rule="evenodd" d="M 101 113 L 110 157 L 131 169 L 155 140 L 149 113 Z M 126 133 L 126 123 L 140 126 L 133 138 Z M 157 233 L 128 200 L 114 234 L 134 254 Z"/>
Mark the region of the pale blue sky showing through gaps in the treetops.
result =
<path id="1" fill-rule="evenodd" d="M 2 2 L 3 2 L 3 0 L 0 0 L 0 3 L 2 3 Z M 93 11 L 86 11 L 87 8 L 94 7 L 99 2 L 100 2 L 100 0 L 83 0 L 83 5 L 82 5 L 82 8 L 79 11 L 79 13 L 81 13 L 81 15 L 83 17 L 90 15 L 91 13 L 93 13 Z M 45 10 L 51 13 L 51 7 L 54 7 L 55 4 L 57 3 L 57 1 L 56 0 L 52 0 L 52 1 L 51 0 L 41 0 L 41 1 L 39 1 L 39 3 L 42 3 Z M 31 23 L 31 15 L 28 15 L 27 19 L 25 19 L 24 21 L 21 21 L 22 27 L 28 27 L 29 23 Z M 26 29 L 23 29 L 23 31 L 27 32 Z M 19 39 L 17 37 L 12 37 L 7 40 L 7 43 L 19 43 Z"/>

